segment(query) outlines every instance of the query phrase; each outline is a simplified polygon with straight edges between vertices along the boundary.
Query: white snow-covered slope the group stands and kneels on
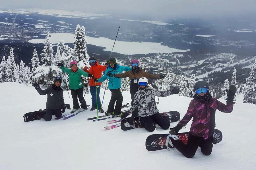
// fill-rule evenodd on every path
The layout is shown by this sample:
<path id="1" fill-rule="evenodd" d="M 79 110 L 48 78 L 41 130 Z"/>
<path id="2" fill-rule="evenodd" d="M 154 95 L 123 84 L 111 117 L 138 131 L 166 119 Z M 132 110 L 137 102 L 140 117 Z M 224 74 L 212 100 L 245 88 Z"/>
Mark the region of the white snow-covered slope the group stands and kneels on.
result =
<path id="1" fill-rule="evenodd" d="M 216 111 L 216 128 L 223 133 L 221 143 L 213 146 L 210 156 L 198 149 L 194 158 L 185 158 L 176 149 L 149 152 L 145 139 L 154 133 L 168 133 L 159 126 L 152 133 L 145 129 L 105 130 L 108 122 L 88 121 L 96 111 L 86 111 L 67 120 L 36 120 L 25 123 L 23 114 L 44 109 L 46 97 L 33 87 L 13 82 L 0 83 L 0 169 L 254 169 L 256 106 L 242 103 L 230 114 Z M 102 99 L 104 90 L 101 90 Z M 69 92 L 70 94 L 70 92 Z M 103 109 L 107 110 L 110 91 L 106 91 Z M 123 92 L 123 103 L 130 102 Z M 72 99 L 64 92 L 65 103 Z M 85 96 L 91 104 L 91 96 Z M 176 110 L 184 116 L 190 98 L 171 95 L 160 97 L 160 112 Z M 225 102 L 220 99 L 220 101 Z M 53 116 L 54 117 L 54 116 Z M 170 127 L 176 126 L 172 123 Z M 191 122 L 186 126 L 188 131 Z"/>

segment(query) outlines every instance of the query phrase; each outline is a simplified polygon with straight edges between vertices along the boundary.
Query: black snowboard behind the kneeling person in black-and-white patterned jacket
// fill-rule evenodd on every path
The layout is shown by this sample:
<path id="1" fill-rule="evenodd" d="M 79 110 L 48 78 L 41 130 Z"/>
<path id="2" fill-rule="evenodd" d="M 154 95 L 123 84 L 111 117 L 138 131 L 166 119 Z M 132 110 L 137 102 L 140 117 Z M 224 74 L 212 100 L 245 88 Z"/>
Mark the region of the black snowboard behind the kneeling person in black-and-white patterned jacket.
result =
<path id="1" fill-rule="evenodd" d="M 161 115 L 168 114 L 171 123 L 177 122 L 180 119 L 180 114 L 177 111 L 163 112 L 160 114 Z M 138 124 L 139 117 L 134 118 L 134 123 L 132 125 L 129 124 L 128 120 L 129 120 L 129 118 L 125 118 L 121 121 L 121 129 L 122 130 L 126 131 L 126 130 L 135 129 L 135 128 L 139 127 L 139 124 Z"/>

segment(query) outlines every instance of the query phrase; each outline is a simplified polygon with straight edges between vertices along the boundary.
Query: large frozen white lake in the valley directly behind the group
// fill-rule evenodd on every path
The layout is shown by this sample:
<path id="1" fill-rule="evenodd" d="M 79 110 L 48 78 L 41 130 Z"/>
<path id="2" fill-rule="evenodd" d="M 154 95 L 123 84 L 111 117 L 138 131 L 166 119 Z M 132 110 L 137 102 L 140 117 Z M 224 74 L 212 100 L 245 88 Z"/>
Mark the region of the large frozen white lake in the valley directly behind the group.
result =
<path id="1" fill-rule="evenodd" d="M 50 41 L 53 44 L 59 43 L 60 40 L 64 40 L 65 43 L 74 43 L 75 35 L 71 33 L 53 33 L 50 34 Z M 114 40 L 100 37 L 88 37 L 86 36 L 87 43 L 97 46 L 106 47 L 105 50 L 111 51 Z M 46 39 L 32 39 L 28 42 L 31 43 L 44 43 Z M 168 46 L 161 45 L 157 42 L 130 42 L 130 41 L 116 41 L 115 48 L 113 52 L 118 52 L 121 54 L 148 54 L 148 53 L 172 53 L 172 52 L 186 52 L 188 50 L 179 50 L 176 48 L 170 48 Z"/>

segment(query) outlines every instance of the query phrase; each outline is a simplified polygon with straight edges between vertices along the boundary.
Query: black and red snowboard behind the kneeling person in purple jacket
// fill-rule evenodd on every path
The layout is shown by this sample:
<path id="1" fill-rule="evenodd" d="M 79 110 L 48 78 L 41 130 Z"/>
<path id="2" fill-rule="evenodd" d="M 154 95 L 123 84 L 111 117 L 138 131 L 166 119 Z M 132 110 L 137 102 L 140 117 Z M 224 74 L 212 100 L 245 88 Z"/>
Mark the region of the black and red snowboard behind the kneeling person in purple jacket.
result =
<path id="1" fill-rule="evenodd" d="M 167 134 L 149 135 L 146 139 L 146 150 L 155 151 L 155 150 L 166 149 L 165 143 L 168 135 L 170 134 L 167 133 Z M 176 136 L 179 137 L 179 139 L 181 139 L 183 143 L 187 144 L 189 132 L 177 133 Z M 214 129 L 213 144 L 220 143 L 220 141 L 222 141 L 222 132 L 218 129 Z M 174 148 L 170 145 L 169 147 Z"/>

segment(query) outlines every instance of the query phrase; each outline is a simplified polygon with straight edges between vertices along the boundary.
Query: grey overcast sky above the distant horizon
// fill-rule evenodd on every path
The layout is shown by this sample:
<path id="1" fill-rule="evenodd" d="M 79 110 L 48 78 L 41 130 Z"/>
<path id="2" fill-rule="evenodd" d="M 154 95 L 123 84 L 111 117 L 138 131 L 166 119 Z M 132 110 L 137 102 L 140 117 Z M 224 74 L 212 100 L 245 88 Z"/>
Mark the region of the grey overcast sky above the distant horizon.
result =
<path id="1" fill-rule="evenodd" d="M 0 8 L 63 9 L 167 19 L 255 14 L 256 0 L 1 0 Z"/>

